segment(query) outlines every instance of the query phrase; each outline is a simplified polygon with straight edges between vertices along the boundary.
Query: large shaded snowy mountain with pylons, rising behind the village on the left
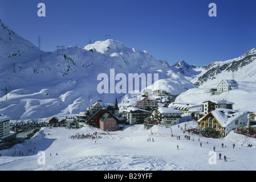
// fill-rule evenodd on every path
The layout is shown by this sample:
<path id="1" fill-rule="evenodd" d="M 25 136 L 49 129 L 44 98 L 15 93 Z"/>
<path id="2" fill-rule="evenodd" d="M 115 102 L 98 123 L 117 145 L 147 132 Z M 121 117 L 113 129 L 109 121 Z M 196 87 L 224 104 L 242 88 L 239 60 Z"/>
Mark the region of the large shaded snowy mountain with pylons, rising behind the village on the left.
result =
<path id="1" fill-rule="evenodd" d="M 110 82 L 111 69 L 115 69 L 115 75 L 124 73 L 127 78 L 129 73 L 159 73 L 159 88 L 171 94 L 196 88 L 172 71 L 166 61 L 116 40 L 98 41 L 83 48 L 68 47 L 63 53 L 62 49 L 43 52 L 3 22 L 0 38 L 0 113 L 13 119 L 76 114 L 96 100 L 113 103 L 116 96 L 121 102 L 125 93 L 97 92 L 101 82 L 97 76 L 105 73 Z"/>

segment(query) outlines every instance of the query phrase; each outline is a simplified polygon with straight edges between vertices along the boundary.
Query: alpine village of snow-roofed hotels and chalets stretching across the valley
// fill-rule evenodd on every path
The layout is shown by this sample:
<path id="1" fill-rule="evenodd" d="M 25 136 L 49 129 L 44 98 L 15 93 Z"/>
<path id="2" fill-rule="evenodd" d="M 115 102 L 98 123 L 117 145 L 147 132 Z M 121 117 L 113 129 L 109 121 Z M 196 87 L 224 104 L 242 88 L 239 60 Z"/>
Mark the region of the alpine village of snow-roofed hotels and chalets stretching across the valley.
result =
<path id="1" fill-rule="evenodd" d="M 229 92 L 233 89 L 238 89 L 237 81 L 222 80 L 217 88 L 209 90 L 209 96 Z M 17 134 L 28 128 L 33 128 L 34 131 L 27 134 L 25 139 L 30 139 L 39 131 L 38 128 L 43 126 L 78 129 L 83 127 L 83 125 L 79 125 L 79 122 L 110 132 L 123 130 L 125 125 L 136 124 L 144 124 L 147 129 L 151 129 L 154 125 L 164 125 L 171 129 L 173 125 L 193 121 L 197 123 L 197 128 L 189 129 L 190 132 L 202 137 L 221 138 L 234 131 L 256 138 L 256 128 L 253 127 L 256 124 L 256 113 L 233 110 L 235 103 L 226 100 L 206 100 L 200 104 L 193 104 L 172 102 L 173 98 L 175 99 L 175 96 L 171 96 L 162 89 L 144 89 L 141 92 L 141 99 L 136 105 L 126 106 L 121 111 L 117 98 L 115 105 L 110 106 L 104 106 L 104 102 L 98 100 L 73 117 L 59 119 L 58 116 L 52 116 L 48 122 L 33 123 L 31 126 L 29 124 L 10 125 L 10 118 L 0 115 L 1 148 L 8 148 L 15 144 Z M 123 104 L 124 102 L 121 101 Z"/>

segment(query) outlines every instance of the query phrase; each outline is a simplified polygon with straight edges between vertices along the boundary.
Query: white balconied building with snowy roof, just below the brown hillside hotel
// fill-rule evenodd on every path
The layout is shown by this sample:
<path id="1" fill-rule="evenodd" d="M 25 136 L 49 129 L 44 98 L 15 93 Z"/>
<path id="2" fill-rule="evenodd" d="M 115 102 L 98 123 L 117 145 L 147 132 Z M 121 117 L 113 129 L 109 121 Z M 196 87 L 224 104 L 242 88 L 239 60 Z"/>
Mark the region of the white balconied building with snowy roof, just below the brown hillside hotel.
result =
<path id="1" fill-rule="evenodd" d="M 174 107 L 159 107 L 156 110 L 157 120 L 160 121 L 162 125 L 177 125 L 180 123 L 180 118 L 182 111 L 175 109 Z"/>

